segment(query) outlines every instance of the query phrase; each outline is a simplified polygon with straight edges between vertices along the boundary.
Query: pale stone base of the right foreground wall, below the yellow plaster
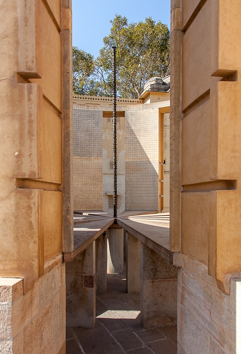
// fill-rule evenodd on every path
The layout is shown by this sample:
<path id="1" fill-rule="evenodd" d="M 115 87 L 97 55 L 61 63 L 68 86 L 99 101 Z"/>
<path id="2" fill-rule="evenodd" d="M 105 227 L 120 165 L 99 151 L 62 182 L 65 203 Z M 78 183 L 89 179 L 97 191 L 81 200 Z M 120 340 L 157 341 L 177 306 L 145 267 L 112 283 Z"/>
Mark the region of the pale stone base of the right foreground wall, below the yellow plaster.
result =
<path id="1" fill-rule="evenodd" d="M 239 280 L 232 280 L 227 295 L 217 288 L 206 265 L 182 256 L 178 273 L 178 353 L 239 352 L 240 285 Z"/>

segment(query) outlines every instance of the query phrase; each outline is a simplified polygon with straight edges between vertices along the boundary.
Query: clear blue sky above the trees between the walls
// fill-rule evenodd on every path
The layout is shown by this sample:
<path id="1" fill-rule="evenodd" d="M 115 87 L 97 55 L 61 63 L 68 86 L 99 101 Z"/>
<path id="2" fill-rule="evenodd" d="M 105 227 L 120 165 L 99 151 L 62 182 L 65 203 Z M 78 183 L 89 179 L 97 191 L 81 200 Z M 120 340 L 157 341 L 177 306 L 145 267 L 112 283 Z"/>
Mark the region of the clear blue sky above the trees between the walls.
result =
<path id="1" fill-rule="evenodd" d="M 110 20 L 115 14 L 127 17 L 128 23 L 152 17 L 170 29 L 170 0 L 72 0 L 73 46 L 95 58 L 110 33 Z"/>

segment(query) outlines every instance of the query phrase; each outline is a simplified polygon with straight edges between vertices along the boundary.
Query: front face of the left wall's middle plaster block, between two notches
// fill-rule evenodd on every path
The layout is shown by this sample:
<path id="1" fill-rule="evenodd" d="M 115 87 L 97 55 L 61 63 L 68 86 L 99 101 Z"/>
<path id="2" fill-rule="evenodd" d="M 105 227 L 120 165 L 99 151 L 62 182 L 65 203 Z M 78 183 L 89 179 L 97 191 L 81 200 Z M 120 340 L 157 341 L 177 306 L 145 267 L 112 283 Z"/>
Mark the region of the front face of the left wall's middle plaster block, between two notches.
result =
<path id="1" fill-rule="evenodd" d="M 38 160 L 38 127 L 41 87 L 33 83 L 0 81 L 0 148 L 2 175 L 9 178 L 41 178 Z M 3 94 L 2 94 L 3 95 Z"/>

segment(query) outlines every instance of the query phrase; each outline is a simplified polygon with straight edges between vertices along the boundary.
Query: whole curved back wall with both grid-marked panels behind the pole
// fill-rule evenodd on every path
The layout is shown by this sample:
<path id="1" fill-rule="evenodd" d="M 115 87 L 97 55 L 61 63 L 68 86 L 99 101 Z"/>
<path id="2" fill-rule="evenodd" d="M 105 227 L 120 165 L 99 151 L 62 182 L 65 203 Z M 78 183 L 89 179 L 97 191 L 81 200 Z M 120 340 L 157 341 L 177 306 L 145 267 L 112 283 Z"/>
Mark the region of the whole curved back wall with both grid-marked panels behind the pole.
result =
<path id="1" fill-rule="evenodd" d="M 108 100 L 88 96 L 74 100 L 74 209 L 104 209 L 112 213 L 107 193 L 113 193 L 113 169 L 110 167 L 113 161 L 113 108 L 112 104 L 99 104 L 100 99 Z M 94 104 L 90 104 L 90 100 Z M 164 211 L 169 211 L 169 114 L 164 114 L 164 141 L 161 142 L 159 110 L 163 108 L 168 111 L 169 101 L 117 106 L 119 213 L 124 210 L 159 210 L 160 144 L 164 145 L 167 161 L 162 191 L 165 193 Z"/>

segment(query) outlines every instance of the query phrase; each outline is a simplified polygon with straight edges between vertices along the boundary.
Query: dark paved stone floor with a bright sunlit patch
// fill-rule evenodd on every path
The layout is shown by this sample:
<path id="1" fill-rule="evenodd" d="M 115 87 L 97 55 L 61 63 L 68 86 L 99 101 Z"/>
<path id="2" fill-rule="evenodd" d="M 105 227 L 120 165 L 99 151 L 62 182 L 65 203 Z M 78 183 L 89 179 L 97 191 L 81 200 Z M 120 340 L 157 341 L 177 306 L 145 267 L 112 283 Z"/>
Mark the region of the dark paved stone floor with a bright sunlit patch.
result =
<path id="1" fill-rule="evenodd" d="M 126 294 L 125 273 L 108 275 L 108 292 L 97 294 L 94 329 L 66 328 L 66 354 L 176 354 L 176 327 L 143 329 L 140 296 Z"/>

